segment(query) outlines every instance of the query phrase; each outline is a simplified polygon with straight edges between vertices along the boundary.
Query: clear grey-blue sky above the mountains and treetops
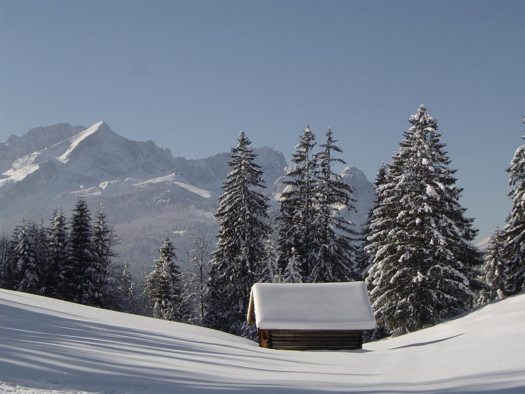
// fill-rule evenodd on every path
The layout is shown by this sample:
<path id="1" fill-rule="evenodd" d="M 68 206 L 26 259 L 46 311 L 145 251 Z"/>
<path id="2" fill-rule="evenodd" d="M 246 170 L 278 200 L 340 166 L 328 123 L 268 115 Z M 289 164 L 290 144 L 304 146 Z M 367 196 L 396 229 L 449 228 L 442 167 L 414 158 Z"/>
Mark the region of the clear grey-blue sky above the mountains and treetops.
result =
<path id="1" fill-rule="evenodd" d="M 424 102 L 481 239 L 510 210 L 524 43 L 522 0 L 0 0 L 0 141 L 104 120 L 202 158 L 244 129 L 289 160 L 310 123 L 373 180 Z"/>

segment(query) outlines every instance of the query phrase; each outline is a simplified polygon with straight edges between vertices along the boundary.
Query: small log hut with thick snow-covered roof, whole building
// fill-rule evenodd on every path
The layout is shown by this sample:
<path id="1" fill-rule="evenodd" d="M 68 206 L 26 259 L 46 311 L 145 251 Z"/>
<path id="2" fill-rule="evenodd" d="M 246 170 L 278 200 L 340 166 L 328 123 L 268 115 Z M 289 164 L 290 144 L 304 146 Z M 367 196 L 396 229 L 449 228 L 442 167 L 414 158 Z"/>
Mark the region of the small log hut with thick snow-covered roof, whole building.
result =
<path id="1" fill-rule="evenodd" d="M 259 346 L 272 349 L 361 349 L 363 331 L 375 328 L 363 282 L 256 283 L 248 324 Z"/>

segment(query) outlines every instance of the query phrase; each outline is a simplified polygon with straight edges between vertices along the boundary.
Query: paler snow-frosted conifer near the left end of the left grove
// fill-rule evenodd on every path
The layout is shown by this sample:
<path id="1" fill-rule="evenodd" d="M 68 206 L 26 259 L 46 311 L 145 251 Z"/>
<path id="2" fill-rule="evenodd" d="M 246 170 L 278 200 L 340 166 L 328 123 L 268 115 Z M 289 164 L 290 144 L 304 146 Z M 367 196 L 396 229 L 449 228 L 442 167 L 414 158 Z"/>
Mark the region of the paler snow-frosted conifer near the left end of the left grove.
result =
<path id="1" fill-rule="evenodd" d="M 37 240 L 33 223 L 22 219 L 15 246 L 16 277 L 15 290 L 24 293 L 41 293 L 41 272 L 37 256 Z"/>

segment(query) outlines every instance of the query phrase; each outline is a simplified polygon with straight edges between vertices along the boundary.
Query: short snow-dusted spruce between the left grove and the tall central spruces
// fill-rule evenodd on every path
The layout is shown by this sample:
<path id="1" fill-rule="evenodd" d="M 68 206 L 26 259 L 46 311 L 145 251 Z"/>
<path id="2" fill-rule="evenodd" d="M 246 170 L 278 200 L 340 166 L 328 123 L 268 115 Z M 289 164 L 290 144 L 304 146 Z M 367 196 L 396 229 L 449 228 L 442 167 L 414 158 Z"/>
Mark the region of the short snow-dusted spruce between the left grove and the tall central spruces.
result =
<path id="1" fill-rule="evenodd" d="M 144 297 L 151 316 L 180 322 L 182 310 L 181 271 L 176 264 L 173 244 L 168 236 L 159 248 L 160 257 L 154 261 L 153 271 L 146 278 Z"/>

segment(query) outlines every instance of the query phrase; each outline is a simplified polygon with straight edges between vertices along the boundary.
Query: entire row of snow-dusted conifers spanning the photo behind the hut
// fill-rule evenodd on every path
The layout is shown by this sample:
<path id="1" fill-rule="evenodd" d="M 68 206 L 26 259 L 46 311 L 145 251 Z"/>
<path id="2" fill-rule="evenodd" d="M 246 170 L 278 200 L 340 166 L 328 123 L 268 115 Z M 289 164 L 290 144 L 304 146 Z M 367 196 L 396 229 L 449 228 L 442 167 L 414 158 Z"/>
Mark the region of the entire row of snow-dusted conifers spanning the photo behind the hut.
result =
<path id="1" fill-rule="evenodd" d="M 211 237 L 194 237 L 186 271 L 166 236 L 140 286 L 129 263 L 116 275 L 116 236 L 103 207 L 91 225 L 79 197 L 69 227 L 57 209 L 49 229 L 23 221 L 10 240 L 4 237 L 0 285 L 247 337 L 256 335 L 246 325 L 256 282 L 365 281 L 377 337 L 432 326 L 522 292 L 525 146 L 508 169 L 512 211 L 484 255 L 471 244 L 478 231 L 459 203 L 462 189 L 437 120 L 426 111 L 422 105 L 409 118 L 391 162 L 379 168 L 374 206 L 360 231 L 342 215 L 354 209 L 353 189 L 333 171 L 344 161 L 330 128 L 319 145 L 309 126 L 301 134 L 276 196 L 277 213 L 270 213 L 256 154 L 241 132 L 219 197 L 215 249 Z"/>

